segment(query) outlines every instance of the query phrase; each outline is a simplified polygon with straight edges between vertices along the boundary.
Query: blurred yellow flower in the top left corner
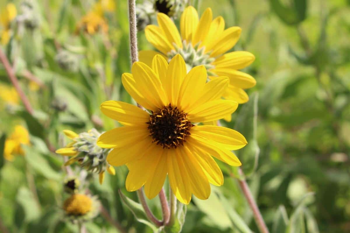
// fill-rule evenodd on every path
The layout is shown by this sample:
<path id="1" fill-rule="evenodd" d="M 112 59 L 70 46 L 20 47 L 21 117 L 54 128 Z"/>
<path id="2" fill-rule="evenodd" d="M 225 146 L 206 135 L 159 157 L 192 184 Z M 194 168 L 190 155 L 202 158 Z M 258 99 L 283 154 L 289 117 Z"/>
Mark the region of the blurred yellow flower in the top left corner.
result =
<path id="1" fill-rule="evenodd" d="M 7 44 L 11 37 L 10 24 L 17 15 L 16 6 L 13 3 L 8 3 L 0 12 L 0 24 L 2 26 L 1 44 Z"/>

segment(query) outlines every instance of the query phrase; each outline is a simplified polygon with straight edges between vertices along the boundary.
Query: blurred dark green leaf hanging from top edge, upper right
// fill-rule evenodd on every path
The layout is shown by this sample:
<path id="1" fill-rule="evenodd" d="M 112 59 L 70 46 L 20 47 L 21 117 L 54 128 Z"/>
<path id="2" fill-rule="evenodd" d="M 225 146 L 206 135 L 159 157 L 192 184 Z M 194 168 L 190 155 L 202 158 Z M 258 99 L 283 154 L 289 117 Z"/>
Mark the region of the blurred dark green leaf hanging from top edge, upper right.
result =
<path id="1" fill-rule="evenodd" d="M 293 0 L 290 7 L 281 3 L 281 0 L 270 0 L 272 10 L 288 25 L 296 25 L 306 18 L 307 0 Z"/>

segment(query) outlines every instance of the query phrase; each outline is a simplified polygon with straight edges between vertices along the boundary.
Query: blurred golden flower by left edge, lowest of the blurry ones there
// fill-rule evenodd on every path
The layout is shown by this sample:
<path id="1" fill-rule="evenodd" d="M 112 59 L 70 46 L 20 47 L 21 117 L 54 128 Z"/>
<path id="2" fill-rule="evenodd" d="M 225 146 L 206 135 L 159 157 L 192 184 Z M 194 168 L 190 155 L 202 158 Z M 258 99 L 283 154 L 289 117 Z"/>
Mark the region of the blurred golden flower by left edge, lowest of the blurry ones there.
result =
<path id="1" fill-rule="evenodd" d="M 24 155 L 21 145 L 29 145 L 29 133 L 26 128 L 16 125 L 14 132 L 5 141 L 4 157 L 13 161 L 15 155 Z"/>

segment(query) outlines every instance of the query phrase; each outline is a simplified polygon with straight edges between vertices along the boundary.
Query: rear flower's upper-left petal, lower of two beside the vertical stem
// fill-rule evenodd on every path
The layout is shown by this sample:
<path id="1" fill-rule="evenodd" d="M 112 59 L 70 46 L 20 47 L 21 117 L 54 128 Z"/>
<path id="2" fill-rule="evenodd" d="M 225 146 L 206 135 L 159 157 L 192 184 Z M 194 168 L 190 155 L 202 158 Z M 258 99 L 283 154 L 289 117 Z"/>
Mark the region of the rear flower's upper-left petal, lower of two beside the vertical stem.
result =
<path id="1" fill-rule="evenodd" d="M 163 30 L 160 29 L 158 26 L 148 25 L 145 29 L 145 35 L 147 41 L 164 54 L 167 54 L 168 52 L 174 49 L 174 46 L 169 43 Z"/>

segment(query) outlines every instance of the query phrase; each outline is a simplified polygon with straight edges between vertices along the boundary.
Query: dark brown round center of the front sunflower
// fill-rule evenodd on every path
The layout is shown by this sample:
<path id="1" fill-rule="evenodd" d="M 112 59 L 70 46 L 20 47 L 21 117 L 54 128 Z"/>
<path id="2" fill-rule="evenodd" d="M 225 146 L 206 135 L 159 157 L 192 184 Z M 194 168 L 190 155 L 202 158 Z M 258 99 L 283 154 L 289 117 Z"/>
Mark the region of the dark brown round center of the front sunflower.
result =
<path id="1" fill-rule="evenodd" d="M 153 112 L 147 124 L 152 142 L 168 149 L 183 145 L 194 126 L 188 121 L 187 113 L 171 104 Z"/>

